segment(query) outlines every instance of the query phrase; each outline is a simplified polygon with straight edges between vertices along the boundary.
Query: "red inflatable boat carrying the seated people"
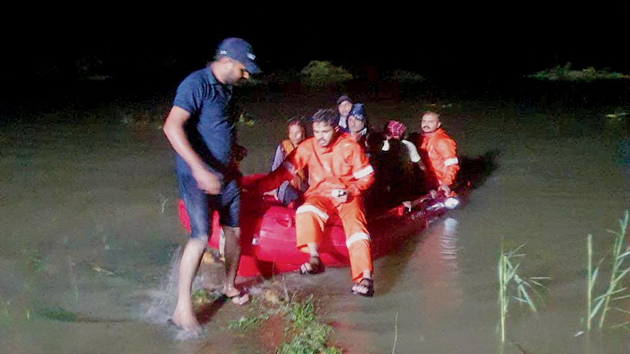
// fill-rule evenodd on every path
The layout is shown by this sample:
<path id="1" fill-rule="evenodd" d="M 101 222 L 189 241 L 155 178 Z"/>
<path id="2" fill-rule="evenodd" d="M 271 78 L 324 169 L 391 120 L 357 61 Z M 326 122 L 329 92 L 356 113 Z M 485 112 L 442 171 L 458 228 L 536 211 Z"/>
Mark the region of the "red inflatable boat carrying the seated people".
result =
<path id="1" fill-rule="evenodd" d="M 261 176 L 264 175 L 245 176 L 242 185 L 246 189 L 248 183 Z M 457 204 L 459 201 L 455 198 L 427 195 L 416 198 L 411 203 L 411 210 L 400 205 L 369 216 L 373 258 L 387 254 L 404 237 L 427 227 Z M 178 211 L 181 224 L 190 232 L 190 220 L 181 200 Z M 210 248 L 221 249 L 219 217 L 216 212 L 211 217 L 212 235 L 208 244 Z M 240 224 L 242 252 L 238 275 L 241 277 L 294 271 L 308 261 L 308 254 L 298 251 L 295 246 L 295 209 L 284 207 L 275 200 L 253 199 L 243 193 Z M 324 266 L 349 265 L 346 237 L 338 217 L 328 220 L 323 242 L 319 245 L 319 253 Z"/>

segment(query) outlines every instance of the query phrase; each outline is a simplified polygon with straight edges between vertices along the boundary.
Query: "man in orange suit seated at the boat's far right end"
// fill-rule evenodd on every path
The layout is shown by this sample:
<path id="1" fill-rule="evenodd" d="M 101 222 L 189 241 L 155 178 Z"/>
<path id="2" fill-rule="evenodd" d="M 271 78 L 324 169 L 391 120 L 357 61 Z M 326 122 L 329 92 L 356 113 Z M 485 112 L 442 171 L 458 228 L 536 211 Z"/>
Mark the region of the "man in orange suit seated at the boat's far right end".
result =
<path id="1" fill-rule="evenodd" d="M 455 175 L 459 171 L 457 144 L 444 132 L 440 115 L 428 111 L 422 116 L 422 135 L 420 137 L 420 156 L 427 167 L 427 183 L 430 189 L 444 191 L 447 196 L 454 196 L 450 190 Z"/>

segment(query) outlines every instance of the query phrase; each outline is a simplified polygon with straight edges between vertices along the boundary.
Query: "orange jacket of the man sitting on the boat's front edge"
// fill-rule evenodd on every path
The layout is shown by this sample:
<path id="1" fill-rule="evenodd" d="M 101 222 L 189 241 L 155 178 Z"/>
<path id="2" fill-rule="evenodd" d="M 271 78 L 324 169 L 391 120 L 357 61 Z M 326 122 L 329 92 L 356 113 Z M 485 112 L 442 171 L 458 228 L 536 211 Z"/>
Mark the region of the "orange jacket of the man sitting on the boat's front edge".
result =
<path id="1" fill-rule="evenodd" d="M 319 146 L 314 137 L 304 140 L 279 168 L 256 182 L 256 191 L 277 188 L 305 167 L 309 173 L 305 197 L 333 197 L 333 190 L 348 190 L 349 197 L 357 197 L 374 183 L 374 169 L 361 146 L 350 135 L 341 134 L 326 147 Z"/>

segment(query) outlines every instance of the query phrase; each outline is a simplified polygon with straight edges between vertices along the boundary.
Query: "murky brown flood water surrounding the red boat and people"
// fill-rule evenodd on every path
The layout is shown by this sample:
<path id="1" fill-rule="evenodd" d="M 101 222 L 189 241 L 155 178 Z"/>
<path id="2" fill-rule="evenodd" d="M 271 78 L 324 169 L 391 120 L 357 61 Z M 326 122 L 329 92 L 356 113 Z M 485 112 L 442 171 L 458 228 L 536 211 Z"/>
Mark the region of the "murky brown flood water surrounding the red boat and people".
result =
<path id="1" fill-rule="evenodd" d="M 626 353 L 626 329 L 594 330 L 590 338 L 580 331 L 587 234 L 597 261 L 612 244 L 606 229 L 618 231 L 630 208 L 630 137 L 623 122 L 605 117 L 628 106 L 597 101 L 596 93 L 553 109 L 536 95 L 441 94 L 371 100 L 370 124 L 396 118 L 418 130 L 417 112 L 433 103 L 459 155 L 493 156 L 496 168 L 463 207 L 375 261 L 373 299 L 350 294 L 347 268 L 287 275 L 290 290 L 322 300 L 322 319 L 335 328 L 331 343 L 348 353 L 389 353 L 394 343 L 396 353 L 495 353 L 498 254 L 501 244 L 525 244 L 520 275 L 550 279 L 544 302 L 536 298 L 537 314 L 512 302 L 508 342 L 527 353 Z M 247 106 L 256 123 L 239 127 L 249 149 L 241 165 L 246 174 L 268 170 L 285 118 L 329 100 L 281 96 Z M 240 316 L 234 305 L 205 324 L 206 340 L 182 340 L 164 324 L 186 235 L 176 219 L 173 153 L 159 120 L 123 123 L 116 103 L 31 116 L 5 117 L 0 126 L 1 351 L 261 350 L 256 338 L 222 329 Z M 606 258 L 596 292 L 604 291 L 609 268 Z M 59 321 L 52 309 L 80 316 Z M 607 326 L 627 320 L 610 312 Z M 513 343 L 504 349 L 524 352 Z"/>

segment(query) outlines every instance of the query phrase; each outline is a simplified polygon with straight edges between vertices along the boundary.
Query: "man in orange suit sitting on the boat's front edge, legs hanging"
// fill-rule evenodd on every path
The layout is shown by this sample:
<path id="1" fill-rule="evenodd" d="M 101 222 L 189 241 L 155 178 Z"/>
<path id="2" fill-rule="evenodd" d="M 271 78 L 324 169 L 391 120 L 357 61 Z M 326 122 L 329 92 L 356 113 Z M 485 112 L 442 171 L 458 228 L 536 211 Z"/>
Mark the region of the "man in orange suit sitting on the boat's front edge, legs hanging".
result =
<path id="1" fill-rule="evenodd" d="M 307 168 L 309 188 L 304 203 L 295 211 L 297 248 L 311 255 L 300 266 L 302 274 L 324 271 L 318 243 L 331 215 L 338 214 L 350 254 L 352 292 L 371 297 L 372 254 L 365 220 L 363 194 L 374 183 L 374 169 L 362 147 L 338 128 L 333 110 L 319 110 L 311 118 L 313 137 L 304 140 L 282 166 L 258 180 L 253 191 L 259 195 L 291 180 L 296 171 Z"/>

